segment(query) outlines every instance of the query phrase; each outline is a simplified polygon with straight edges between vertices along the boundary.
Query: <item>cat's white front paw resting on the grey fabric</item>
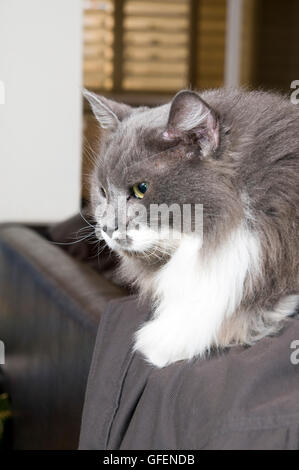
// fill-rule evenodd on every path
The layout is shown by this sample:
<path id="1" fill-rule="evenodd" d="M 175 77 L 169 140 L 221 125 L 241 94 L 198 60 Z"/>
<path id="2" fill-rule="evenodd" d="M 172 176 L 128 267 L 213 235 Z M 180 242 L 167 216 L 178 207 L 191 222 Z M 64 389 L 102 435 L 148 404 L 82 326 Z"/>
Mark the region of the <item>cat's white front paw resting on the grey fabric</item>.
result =
<path id="1" fill-rule="evenodd" d="M 159 319 L 149 321 L 137 331 L 134 350 L 141 352 L 147 362 L 156 367 L 165 367 L 193 356 L 180 329 Z"/>

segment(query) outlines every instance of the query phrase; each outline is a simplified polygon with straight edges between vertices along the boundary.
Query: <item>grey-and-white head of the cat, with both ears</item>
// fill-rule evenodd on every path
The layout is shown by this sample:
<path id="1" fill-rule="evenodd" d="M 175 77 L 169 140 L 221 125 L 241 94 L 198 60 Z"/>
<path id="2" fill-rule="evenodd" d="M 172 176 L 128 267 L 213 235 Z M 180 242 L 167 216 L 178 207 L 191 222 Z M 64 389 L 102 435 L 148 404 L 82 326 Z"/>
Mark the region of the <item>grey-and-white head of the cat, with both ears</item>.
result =
<path id="1" fill-rule="evenodd" d="M 217 216 L 221 123 L 208 103 L 188 90 L 155 108 L 132 108 L 89 91 L 84 95 L 103 129 L 92 212 L 112 249 L 167 253 L 179 238 L 174 234 L 194 230 L 195 204 Z M 165 217 L 161 205 L 168 208 Z M 186 210 L 191 225 L 178 222 L 173 205 L 181 216 L 192 206 Z"/>

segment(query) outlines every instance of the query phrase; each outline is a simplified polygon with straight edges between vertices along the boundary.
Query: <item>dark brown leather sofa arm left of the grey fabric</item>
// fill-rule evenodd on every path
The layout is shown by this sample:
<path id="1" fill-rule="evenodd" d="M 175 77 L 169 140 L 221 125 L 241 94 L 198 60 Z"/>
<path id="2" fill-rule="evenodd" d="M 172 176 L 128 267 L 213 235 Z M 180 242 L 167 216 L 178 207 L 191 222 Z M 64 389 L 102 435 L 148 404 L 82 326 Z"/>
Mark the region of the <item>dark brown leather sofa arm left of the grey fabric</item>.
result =
<path id="1" fill-rule="evenodd" d="M 97 325 L 125 294 L 34 230 L 0 227 L 3 387 L 15 449 L 75 449 Z"/>

